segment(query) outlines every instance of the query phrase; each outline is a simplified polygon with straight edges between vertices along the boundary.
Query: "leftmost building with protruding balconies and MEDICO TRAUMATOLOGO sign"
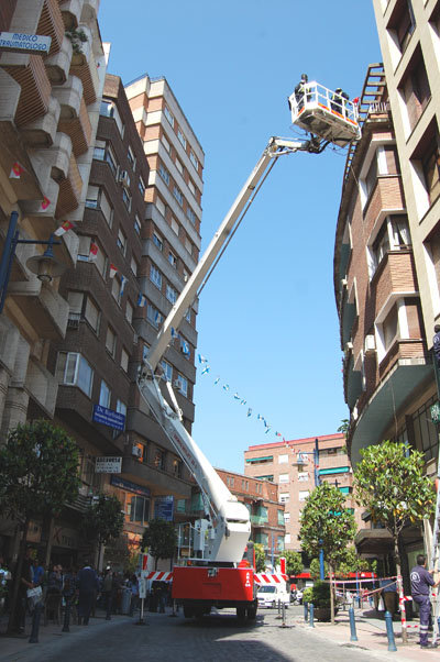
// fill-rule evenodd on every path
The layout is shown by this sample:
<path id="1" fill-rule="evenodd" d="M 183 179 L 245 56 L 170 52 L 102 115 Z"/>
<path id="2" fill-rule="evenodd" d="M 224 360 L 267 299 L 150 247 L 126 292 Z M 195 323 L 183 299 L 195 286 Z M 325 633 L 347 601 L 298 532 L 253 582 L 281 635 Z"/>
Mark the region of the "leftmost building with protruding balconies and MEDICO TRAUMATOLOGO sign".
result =
<path id="1" fill-rule="evenodd" d="M 65 336 L 69 311 L 56 275 L 75 265 L 78 238 L 68 232 L 54 245 L 52 273 L 42 260 L 47 246 L 32 242 L 47 242 L 65 220 L 82 218 L 106 74 L 98 7 L 99 0 L 3 0 L 0 7 L 1 31 L 51 37 L 47 54 L 0 48 L 0 250 L 14 229 L 31 242 L 16 244 L 9 283 L 3 279 L 2 440 L 18 423 L 55 413 L 50 344 Z M 38 522 L 32 531 L 40 540 Z M 14 522 L 1 521 L 7 553 L 13 536 Z"/>

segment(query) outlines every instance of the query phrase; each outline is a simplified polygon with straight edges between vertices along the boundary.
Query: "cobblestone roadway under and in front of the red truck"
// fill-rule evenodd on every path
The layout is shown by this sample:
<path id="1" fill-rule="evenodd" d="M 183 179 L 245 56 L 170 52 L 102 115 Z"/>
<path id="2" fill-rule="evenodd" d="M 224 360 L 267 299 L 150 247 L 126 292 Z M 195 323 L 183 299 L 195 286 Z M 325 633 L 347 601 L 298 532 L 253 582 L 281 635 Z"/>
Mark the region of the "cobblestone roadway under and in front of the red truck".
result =
<path id="1" fill-rule="evenodd" d="M 96 627 L 75 628 L 70 633 L 54 631 L 38 644 L 23 642 L 16 653 L 1 655 L 7 662 L 364 662 L 385 660 L 375 652 L 327 640 L 294 624 L 288 610 L 285 628 L 274 609 L 260 611 L 254 624 L 239 626 L 233 610 L 217 616 L 186 620 L 182 613 L 147 614 L 146 625 L 119 617 Z M 0 642 L 1 647 L 1 642 Z M 395 655 L 395 654 L 394 654 Z M 389 657 L 389 653 L 388 655 Z M 398 658 L 394 657 L 394 660 Z"/>

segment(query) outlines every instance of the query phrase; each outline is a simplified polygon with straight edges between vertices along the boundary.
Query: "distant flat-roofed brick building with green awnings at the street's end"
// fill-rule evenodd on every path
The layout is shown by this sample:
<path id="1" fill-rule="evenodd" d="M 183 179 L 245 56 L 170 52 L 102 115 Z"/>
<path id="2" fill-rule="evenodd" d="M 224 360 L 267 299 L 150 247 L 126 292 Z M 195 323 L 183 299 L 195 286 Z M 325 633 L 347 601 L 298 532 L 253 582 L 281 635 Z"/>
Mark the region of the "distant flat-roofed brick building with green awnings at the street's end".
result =
<path id="1" fill-rule="evenodd" d="M 352 498 L 352 471 L 343 434 L 252 445 L 244 451 L 244 463 L 246 476 L 277 486 L 278 503 L 284 504 L 286 550 L 301 549 L 298 538 L 301 509 L 317 481 L 328 481 L 346 495 L 346 507 L 355 512 L 361 525 L 361 512 Z"/>

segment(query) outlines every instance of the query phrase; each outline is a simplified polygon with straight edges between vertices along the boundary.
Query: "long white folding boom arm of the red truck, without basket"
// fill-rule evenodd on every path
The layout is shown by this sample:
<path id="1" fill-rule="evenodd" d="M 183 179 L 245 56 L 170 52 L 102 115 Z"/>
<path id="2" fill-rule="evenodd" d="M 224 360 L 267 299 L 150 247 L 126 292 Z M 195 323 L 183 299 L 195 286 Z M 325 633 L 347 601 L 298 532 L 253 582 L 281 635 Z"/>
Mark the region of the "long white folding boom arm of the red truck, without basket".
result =
<path id="1" fill-rule="evenodd" d="M 172 328 L 177 329 L 186 310 L 193 305 L 216 257 L 245 213 L 246 203 L 252 202 L 251 198 L 256 192 L 257 185 L 268 172 L 271 162 L 283 154 L 298 151 L 318 153 L 321 150 L 319 148 L 319 142 L 314 139 L 290 141 L 272 137 L 270 140 L 258 163 L 227 213 L 173 306 L 156 340 L 150 347 L 139 377 L 142 396 L 201 488 L 206 504 L 206 516 L 209 520 L 204 554 L 204 558 L 208 561 L 238 563 L 242 560 L 251 533 L 249 510 L 229 492 L 223 481 L 185 429 L 182 422 L 182 411 L 168 382 L 166 382 L 166 387 L 173 406 L 164 398 L 160 379 L 155 375 L 155 368 L 170 341 Z"/>

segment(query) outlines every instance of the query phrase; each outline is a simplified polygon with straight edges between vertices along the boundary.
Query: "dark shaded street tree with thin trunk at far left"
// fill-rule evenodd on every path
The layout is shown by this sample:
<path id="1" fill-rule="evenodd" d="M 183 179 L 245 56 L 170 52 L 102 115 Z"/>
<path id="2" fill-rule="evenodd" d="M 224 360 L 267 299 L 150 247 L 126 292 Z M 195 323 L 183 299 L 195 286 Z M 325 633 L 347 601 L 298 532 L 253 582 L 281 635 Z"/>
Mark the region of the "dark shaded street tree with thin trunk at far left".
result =
<path id="1" fill-rule="evenodd" d="M 0 510 L 19 522 L 22 537 L 13 573 L 11 616 L 14 628 L 19 583 L 33 518 L 52 518 L 78 494 L 78 448 L 47 420 L 19 424 L 0 448 Z"/>

